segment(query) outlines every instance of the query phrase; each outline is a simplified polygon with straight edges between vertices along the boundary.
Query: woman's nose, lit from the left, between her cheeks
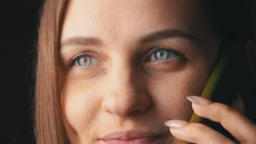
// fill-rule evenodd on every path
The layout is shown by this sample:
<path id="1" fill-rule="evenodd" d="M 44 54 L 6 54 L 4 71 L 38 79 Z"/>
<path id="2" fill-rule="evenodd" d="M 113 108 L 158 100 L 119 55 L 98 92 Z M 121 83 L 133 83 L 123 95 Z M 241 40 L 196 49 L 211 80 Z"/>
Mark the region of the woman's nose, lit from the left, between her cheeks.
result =
<path id="1" fill-rule="evenodd" d="M 141 115 L 151 105 L 143 76 L 133 67 L 122 66 L 108 73 L 107 92 L 102 101 L 104 111 L 119 118 Z"/>

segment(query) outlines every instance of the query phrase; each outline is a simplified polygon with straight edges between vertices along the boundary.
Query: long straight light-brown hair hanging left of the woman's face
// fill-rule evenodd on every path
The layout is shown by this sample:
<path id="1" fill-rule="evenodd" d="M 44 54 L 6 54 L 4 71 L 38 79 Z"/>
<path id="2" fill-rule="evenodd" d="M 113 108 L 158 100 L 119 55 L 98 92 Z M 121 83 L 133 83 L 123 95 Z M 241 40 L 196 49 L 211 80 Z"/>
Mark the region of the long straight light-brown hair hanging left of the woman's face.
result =
<path id="1" fill-rule="evenodd" d="M 58 83 L 58 47 L 65 0 L 46 0 L 40 13 L 35 88 L 37 144 L 68 143 Z"/>

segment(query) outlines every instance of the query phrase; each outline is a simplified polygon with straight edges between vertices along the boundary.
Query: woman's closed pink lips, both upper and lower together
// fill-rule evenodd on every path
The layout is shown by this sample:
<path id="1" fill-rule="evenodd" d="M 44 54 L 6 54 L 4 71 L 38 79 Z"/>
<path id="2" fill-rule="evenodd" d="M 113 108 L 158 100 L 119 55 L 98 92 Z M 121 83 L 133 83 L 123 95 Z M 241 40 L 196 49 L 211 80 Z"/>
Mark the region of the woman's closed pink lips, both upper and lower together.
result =
<path id="1" fill-rule="evenodd" d="M 114 131 L 99 138 L 105 144 L 150 144 L 162 135 L 145 131 Z"/>

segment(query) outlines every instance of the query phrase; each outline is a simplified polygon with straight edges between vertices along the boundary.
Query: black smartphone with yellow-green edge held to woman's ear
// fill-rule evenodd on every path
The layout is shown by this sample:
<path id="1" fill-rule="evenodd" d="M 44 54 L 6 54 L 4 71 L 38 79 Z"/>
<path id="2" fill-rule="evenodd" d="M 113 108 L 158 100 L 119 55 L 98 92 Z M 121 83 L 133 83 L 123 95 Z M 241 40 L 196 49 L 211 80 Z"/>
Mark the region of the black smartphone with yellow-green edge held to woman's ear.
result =
<path id="1" fill-rule="evenodd" d="M 201 97 L 208 98 L 213 102 L 231 105 L 232 101 L 236 99 L 237 92 L 242 97 L 250 96 L 253 98 L 253 95 L 256 95 L 255 80 L 244 46 L 245 40 L 233 39 L 221 47 L 219 57 L 213 66 Z M 201 118 L 195 113 L 190 122 L 205 124 L 231 140 L 234 139 L 219 123 Z M 181 144 L 191 143 L 182 141 Z"/>

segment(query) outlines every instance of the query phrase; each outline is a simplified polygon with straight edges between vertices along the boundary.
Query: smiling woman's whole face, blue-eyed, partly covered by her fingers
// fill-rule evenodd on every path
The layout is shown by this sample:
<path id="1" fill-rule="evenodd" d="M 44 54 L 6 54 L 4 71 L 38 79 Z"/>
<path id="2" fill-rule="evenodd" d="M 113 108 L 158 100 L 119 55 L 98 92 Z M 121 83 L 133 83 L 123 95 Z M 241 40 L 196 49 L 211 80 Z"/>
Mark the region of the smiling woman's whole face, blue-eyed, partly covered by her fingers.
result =
<path id="1" fill-rule="evenodd" d="M 191 0 L 70 0 L 61 33 L 61 101 L 72 144 L 178 143 L 219 42 Z M 130 143 L 129 143 L 130 142 Z"/>

